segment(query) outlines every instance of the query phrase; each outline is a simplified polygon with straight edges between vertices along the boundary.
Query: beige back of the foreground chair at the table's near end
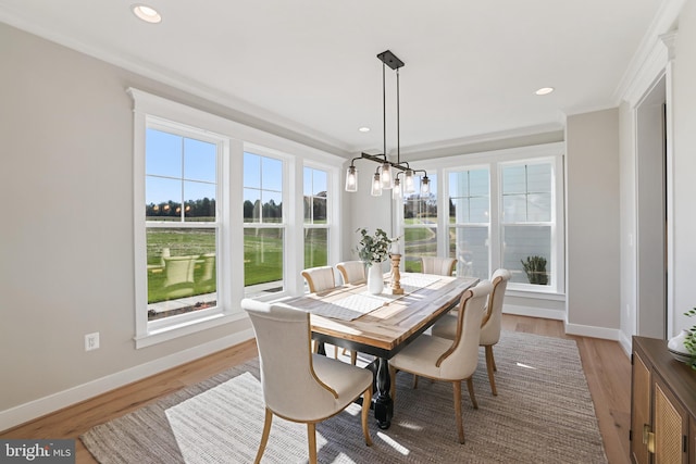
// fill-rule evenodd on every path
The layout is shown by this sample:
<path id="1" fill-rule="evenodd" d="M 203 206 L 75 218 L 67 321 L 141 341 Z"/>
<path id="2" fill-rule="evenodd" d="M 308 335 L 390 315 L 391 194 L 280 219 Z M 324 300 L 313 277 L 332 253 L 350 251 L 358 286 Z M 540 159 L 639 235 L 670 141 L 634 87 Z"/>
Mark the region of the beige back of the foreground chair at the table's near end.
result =
<path id="1" fill-rule="evenodd" d="M 335 404 L 337 393 L 314 373 L 309 313 L 282 304 L 241 300 L 259 349 L 265 405 L 293 421 L 315 421 Z M 321 417 L 323 418 L 323 417 Z"/>

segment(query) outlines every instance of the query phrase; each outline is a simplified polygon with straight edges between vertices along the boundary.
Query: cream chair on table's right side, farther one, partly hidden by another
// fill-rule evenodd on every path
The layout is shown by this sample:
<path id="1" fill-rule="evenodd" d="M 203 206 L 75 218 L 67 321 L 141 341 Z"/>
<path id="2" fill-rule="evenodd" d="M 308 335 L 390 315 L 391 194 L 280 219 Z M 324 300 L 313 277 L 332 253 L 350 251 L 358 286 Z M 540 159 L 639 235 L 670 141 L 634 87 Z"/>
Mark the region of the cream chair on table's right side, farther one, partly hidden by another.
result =
<path id="1" fill-rule="evenodd" d="M 496 360 L 493 356 L 493 346 L 500 341 L 502 300 L 505 299 L 505 290 L 508 288 L 510 277 L 511 274 L 507 269 L 497 269 L 493 273 L 493 276 L 490 277 L 493 291 L 488 298 L 488 305 L 481 325 L 481 341 L 478 344 L 484 347 L 486 351 L 488 381 L 490 383 L 490 391 L 494 396 L 498 394 L 498 390 L 496 389 L 496 379 L 494 377 L 494 372 L 497 371 L 497 367 Z M 446 315 L 435 323 L 432 331 L 436 337 L 453 339 L 457 334 L 457 317 L 452 314 Z"/>

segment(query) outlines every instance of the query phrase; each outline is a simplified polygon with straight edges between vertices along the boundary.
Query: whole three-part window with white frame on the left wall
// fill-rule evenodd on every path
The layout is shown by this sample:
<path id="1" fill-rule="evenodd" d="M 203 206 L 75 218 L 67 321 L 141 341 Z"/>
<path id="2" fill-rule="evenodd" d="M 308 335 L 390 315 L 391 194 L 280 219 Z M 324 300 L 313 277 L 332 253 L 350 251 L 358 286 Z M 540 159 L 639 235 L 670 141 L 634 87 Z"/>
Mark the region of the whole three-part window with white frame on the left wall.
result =
<path id="1" fill-rule="evenodd" d="M 299 294 L 304 233 L 308 260 L 330 263 L 338 254 L 333 203 L 344 159 L 134 88 L 128 93 L 136 348 L 243 319 L 239 301 L 248 296 Z M 307 198 L 295 188 L 303 183 Z"/>

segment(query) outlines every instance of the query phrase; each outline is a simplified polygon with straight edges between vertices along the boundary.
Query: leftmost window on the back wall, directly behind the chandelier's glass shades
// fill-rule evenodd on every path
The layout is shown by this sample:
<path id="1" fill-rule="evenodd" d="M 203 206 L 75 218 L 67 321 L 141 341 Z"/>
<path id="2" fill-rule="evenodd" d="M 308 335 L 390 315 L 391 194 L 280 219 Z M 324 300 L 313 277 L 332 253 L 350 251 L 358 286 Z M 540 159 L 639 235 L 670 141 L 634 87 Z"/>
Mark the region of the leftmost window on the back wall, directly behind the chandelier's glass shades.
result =
<path id="1" fill-rule="evenodd" d="M 417 193 L 403 197 L 403 266 L 407 272 L 421 272 L 421 256 L 437 255 L 437 176 L 430 178 L 430 192 L 421 195 L 421 178 Z"/>

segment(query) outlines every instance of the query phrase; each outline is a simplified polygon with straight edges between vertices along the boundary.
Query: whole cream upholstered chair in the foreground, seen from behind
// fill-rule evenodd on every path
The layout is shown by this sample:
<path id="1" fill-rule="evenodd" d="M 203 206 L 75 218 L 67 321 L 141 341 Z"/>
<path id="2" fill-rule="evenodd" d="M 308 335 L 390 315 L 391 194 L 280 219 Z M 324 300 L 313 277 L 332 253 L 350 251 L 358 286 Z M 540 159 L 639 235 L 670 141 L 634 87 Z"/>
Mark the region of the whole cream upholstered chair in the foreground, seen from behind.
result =
<path id="1" fill-rule="evenodd" d="M 244 299 L 259 348 L 265 422 L 256 463 L 265 449 L 273 414 L 306 423 L 309 462 L 316 462 L 316 423 L 338 414 L 363 394 L 362 432 L 372 444 L 368 414 L 372 402 L 372 372 L 310 349 L 309 313 L 284 304 Z"/>

